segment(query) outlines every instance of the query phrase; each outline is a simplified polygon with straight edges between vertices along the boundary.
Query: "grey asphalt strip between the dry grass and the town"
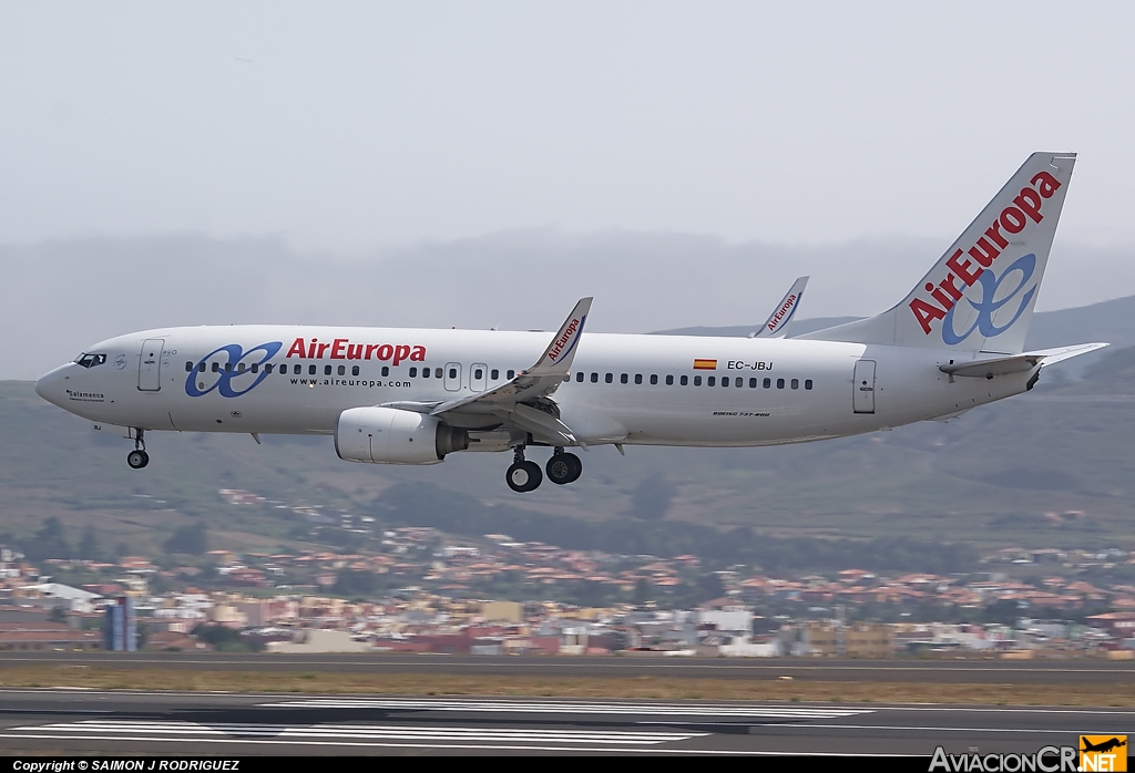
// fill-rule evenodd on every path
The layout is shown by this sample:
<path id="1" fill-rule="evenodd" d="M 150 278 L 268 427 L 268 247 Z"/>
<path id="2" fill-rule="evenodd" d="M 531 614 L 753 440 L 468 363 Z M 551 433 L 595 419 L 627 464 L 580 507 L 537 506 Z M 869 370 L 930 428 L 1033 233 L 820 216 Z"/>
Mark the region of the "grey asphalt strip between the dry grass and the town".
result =
<path id="1" fill-rule="evenodd" d="M 463 676 L 641 677 L 807 681 L 1111 685 L 1135 688 L 1135 661 L 806 660 L 797 657 L 537 657 L 469 655 L 239 655 L 224 653 L 0 653 L 0 669 L 91 665 L 196 671 L 448 673 Z"/>

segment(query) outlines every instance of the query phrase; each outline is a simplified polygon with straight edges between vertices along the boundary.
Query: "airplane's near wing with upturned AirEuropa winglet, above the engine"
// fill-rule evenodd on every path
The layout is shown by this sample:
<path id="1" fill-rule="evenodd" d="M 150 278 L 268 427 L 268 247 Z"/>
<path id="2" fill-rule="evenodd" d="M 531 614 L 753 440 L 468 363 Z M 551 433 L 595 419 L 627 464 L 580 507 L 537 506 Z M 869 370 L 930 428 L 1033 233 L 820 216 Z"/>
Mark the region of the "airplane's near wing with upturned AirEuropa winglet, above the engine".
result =
<path id="1" fill-rule="evenodd" d="M 445 402 L 398 400 L 384 402 L 382 407 L 429 414 L 443 421 L 446 416 L 457 418 L 460 415 L 496 417 L 503 424 L 530 432 L 544 442 L 575 444 L 575 435 L 560 421 L 555 402 L 547 398 L 568 380 L 591 300 L 580 299 L 536 364 L 499 387 Z"/>

